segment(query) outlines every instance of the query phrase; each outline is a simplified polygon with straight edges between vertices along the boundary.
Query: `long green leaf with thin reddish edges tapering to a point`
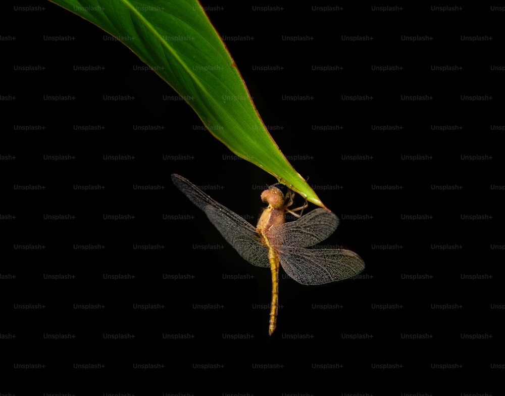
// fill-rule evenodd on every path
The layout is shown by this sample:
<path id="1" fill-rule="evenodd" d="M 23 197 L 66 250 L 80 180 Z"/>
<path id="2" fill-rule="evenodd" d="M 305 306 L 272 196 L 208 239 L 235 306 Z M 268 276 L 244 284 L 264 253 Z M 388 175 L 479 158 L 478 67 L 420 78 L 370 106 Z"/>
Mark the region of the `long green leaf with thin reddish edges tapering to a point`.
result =
<path id="1" fill-rule="evenodd" d="M 261 120 L 197 0 L 50 0 L 112 34 L 172 86 L 237 156 L 324 207 Z"/>

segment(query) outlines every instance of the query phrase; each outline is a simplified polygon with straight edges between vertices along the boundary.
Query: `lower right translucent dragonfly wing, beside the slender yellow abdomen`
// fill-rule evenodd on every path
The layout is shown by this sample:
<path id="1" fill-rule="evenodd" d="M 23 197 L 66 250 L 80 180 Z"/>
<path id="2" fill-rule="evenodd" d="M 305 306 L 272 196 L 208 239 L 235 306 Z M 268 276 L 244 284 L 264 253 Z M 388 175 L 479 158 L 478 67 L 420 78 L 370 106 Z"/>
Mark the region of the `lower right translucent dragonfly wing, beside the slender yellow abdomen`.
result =
<path id="1" fill-rule="evenodd" d="M 317 285 L 358 275 L 365 263 L 345 249 L 303 249 L 281 246 L 275 249 L 284 271 L 298 283 Z"/>

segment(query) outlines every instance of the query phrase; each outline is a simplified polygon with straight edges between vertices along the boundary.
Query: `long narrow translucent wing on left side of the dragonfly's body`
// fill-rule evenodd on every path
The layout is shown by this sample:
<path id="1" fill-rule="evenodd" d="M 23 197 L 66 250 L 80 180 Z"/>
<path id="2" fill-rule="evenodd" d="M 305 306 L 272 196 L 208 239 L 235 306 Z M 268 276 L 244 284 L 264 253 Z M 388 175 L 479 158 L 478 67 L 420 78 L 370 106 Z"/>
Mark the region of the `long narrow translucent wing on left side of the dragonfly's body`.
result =
<path id="1" fill-rule="evenodd" d="M 172 181 L 193 204 L 205 212 L 211 223 L 243 259 L 257 267 L 270 267 L 268 248 L 260 242 L 255 227 L 184 177 L 172 174 Z"/>

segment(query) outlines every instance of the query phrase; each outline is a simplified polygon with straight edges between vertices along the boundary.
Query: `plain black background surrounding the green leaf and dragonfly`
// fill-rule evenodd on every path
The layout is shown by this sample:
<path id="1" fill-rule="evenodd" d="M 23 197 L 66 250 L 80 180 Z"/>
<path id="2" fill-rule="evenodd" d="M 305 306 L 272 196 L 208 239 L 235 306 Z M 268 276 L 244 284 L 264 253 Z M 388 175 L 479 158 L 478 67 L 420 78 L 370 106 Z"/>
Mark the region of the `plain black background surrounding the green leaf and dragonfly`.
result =
<path id="1" fill-rule="evenodd" d="M 127 47 L 105 40 L 106 33 L 51 3 L 16 5 L 44 10 L 2 5 L 0 35 L 15 40 L 0 42 L 0 94 L 15 99 L 0 102 L 0 393 L 505 394 L 499 383 L 503 370 L 496 368 L 505 365 L 504 311 L 496 308 L 505 304 L 503 250 L 492 248 L 505 243 L 503 189 L 492 187 L 505 185 L 503 130 L 492 128 L 505 125 L 503 71 L 491 70 L 505 66 L 505 14 L 492 11 L 493 4 L 448 12 L 429 4 L 388 12 L 352 3 L 329 12 L 313 11 L 311 4 L 276 4 L 283 10 L 260 12 L 253 10 L 265 4 L 203 3 L 223 8 L 208 12 L 220 35 L 254 37 L 226 44 L 255 105 L 295 169 L 341 217 L 325 243 L 357 252 L 367 265 L 357 279 L 317 287 L 299 285 L 283 273 L 278 327 L 271 337 L 268 310 L 254 308 L 270 302 L 269 271 L 243 261 L 173 186 L 170 174 L 207 188 L 253 224 L 261 189 L 275 179 L 199 130 L 186 103 L 163 101 L 174 91 L 155 73 L 134 70 L 143 64 Z M 45 35 L 75 40 L 46 41 Z M 313 39 L 283 39 L 295 35 Z M 366 35 L 373 40 L 342 40 Z M 492 40 L 461 39 L 485 35 Z M 16 65 L 45 69 L 22 72 Z M 74 65 L 105 69 L 80 72 Z M 258 65 L 283 69 L 255 71 Z M 343 69 L 314 71 L 313 65 Z M 374 71 L 374 65 L 403 69 Z M 432 70 L 447 65 L 462 70 Z M 43 100 L 58 94 L 75 100 Z M 135 100 L 102 100 L 114 94 Z M 314 98 L 293 102 L 283 95 Z M 373 99 L 349 102 L 342 95 Z M 403 101 L 402 95 L 432 99 Z M 492 99 L 463 101 L 461 95 Z M 17 125 L 45 129 L 22 131 Z M 74 125 L 105 129 L 76 131 Z M 138 131 L 134 125 L 164 129 Z M 315 125 L 339 128 L 321 131 Z M 402 129 L 373 130 L 374 125 Z M 434 125 L 460 128 L 442 131 Z M 75 158 L 44 159 L 54 155 Z M 106 161 L 104 155 L 134 159 Z M 405 160 L 412 155 L 428 159 Z M 487 157 L 471 161 L 464 155 Z M 15 185 L 45 188 L 25 191 Z M 81 191 L 75 185 L 105 188 Z M 144 191 L 134 185 L 163 188 Z M 75 218 L 44 219 L 58 214 Z M 104 214 L 134 218 L 104 220 Z M 407 220 L 410 215 L 429 217 Z M 44 248 L 15 249 L 26 244 Z M 82 251 L 75 244 L 105 248 Z M 163 249 L 133 249 L 138 244 Z M 384 245 L 389 248 L 378 248 Z M 52 280 L 47 274 L 74 277 Z M 104 274 L 134 278 L 106 280 Z M 245 279 L 225 279 L 228 275 Z M 464 279 L 468 275 L 480 279 Z M 22 304 L 44 308 L 16 308 Z M 104 308 L 81 310 L 76 304 Z M 140 304 L 163 308 L 133 309 Z M 198 304 L 221 308 L 195 309 Z M 324 304 L 330 308 L 315 308 Z M 443 304 L 457 307 L 437 308 Z M 55 340 L 46 334 L 75 337 Z M 105 334 L 134 338 L 111 340 Z M 366 338 L 348 339 L 349 334 Z M 23 364 L 44 367 L 19 368 Z M 103 367 L 85 370 L 76 364 Z M 140 364 L 160 367 L 137 368 Z M 199 366 L 206 364 L 214 366 Z M 316 366 L 324 364 L 331 366 Z M 437 366 L 444 364 L 452 367 Z M 34 385 L 36 392 L 29 391 Z"/>

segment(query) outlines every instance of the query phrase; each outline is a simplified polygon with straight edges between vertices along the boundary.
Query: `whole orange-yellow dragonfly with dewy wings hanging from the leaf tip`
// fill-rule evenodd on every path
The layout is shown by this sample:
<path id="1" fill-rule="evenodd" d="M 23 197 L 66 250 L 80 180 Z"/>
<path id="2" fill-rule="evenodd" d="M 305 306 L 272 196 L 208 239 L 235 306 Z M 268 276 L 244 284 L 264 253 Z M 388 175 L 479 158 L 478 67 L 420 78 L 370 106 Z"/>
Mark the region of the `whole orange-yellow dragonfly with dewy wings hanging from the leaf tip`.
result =
<path id="1" fill-rule="evenodd" d="M 284 194 L 270 186 L 261 194 L 268 203 L 254 227 L 243 217 L 213 200 L 184 177 L 172 174 L 175 186 L 207 215 L 211 223 L 237 253 L 250 264 L 270 268 L 272 296 L 269 335 L 277 326 L 279 301 L 279 264 L 286 274 L 304 285 L 320 285 L 347 279 L 365 269 L 365 263 L 355 252 L 346 249 L 307 249 L 328 238 L 337 228 L 339 219 L 328 209 L 318 208 L 303 216 L 289 209 L 294 192 Z M 286 214 L 297 217 L 285 222 Z"/>

